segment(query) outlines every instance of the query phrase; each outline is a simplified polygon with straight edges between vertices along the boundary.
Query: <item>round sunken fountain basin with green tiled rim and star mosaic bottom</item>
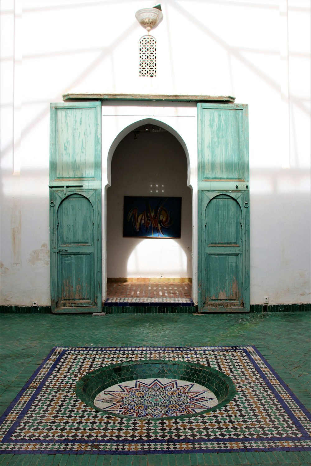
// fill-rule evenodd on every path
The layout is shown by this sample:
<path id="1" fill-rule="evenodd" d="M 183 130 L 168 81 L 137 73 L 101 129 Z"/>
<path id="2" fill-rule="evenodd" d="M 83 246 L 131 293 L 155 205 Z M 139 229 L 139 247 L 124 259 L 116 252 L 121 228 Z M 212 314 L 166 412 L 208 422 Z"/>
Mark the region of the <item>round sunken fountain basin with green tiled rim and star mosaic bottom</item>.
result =
<path id="1" fill-rule="evenodd" d="M 89 372 L 76 384 L 76 394 L 85 404 L 121 418 L 197 416 L 221 408 L 235 393 L 226 374 L 180 361 L 112 364 Z"/>

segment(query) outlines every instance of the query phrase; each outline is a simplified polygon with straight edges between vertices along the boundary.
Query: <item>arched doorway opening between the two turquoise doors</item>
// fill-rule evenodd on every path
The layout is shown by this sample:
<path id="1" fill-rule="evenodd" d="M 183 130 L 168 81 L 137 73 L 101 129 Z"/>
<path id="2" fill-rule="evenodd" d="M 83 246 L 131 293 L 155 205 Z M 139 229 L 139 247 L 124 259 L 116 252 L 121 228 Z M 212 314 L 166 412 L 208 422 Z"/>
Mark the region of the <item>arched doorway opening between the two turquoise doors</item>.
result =
<path id="1" fill-rule="evenodd" d="M 138 123 L 117 145 L 107 190 L 108 304 L 193 304 L 192 192 L 187 176 L 185 150 L 161 122 Z M 138 207 L 128 217 L 137 229 L 131 236 L 124 232 L 124 218 L 131 213 L 124 211 L 124 198 L 142 199 L 149 207 L 152 202 L 162 205 L 180 199 L 181 207 L 180 211 L 171 207 L 172 219 L 166 223 L 162 215 L 162 229 L 150 225 L 152 208 Z M 178 228 L 177 233 L 167 233 L 166 227 L 178 219 L 180 233 Z"/>

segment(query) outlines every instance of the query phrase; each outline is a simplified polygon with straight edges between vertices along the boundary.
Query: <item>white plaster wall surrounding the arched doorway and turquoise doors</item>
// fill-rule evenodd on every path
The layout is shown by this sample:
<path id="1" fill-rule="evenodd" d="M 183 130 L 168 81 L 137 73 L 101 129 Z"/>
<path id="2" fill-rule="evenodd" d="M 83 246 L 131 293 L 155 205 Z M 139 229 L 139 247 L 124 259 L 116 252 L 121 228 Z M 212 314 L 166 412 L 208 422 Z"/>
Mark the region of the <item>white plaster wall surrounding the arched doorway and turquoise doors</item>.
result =
<path id="1" fill-rule="evenodd" d="M 152 79 L 138 77 L 144 30 L 134 16 L 149 6 L 145 0 L 0 2 L 1 304 L 50 302 L 48 112 L 50 102 L 70 91 L 221 94 L 248 103 L 251 303 L 263 302 L 263 295 L 271 304 L 310 302 L 310 1 L 163 0 Z M 103 137 L 104 186 L 117 135 L 144 118 L 180 134 L 191 168 L 194 106 L 178 106 L 177 114 L 155 103 L 105 103 L 104 109 L 110 114 L 103 128 L 111 129 Z M 186 123 L 180 130 L 184 118 L 193 122 L 190 131 Z M 189 173 L 195 209 L 195 164 Z"/>

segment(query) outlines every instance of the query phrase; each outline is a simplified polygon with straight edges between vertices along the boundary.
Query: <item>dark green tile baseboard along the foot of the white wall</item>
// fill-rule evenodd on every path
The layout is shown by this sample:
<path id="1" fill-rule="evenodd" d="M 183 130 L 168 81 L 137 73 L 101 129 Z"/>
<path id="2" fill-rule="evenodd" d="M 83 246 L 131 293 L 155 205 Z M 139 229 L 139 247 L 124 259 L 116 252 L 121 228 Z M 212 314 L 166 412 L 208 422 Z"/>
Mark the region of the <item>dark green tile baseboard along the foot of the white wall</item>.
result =
<path id="1" fill-rule="evenodd" d="M 310 312 L 311 303 L 251 304 L 250 312 Z M 51 314 L 50 306 L 0 306 L 0 314 Z M 193 314 L 198 306 L 103 306 L 106 314 Z"/>

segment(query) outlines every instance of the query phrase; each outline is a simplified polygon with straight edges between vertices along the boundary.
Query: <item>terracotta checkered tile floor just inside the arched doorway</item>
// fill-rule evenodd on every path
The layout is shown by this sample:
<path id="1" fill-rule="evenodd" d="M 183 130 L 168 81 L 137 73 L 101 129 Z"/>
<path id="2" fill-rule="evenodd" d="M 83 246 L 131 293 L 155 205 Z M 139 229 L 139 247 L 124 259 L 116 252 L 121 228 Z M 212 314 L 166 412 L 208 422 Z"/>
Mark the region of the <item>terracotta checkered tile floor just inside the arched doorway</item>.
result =
<path id="1" fill-rule="evenodd" d="M 107 283 L 106 302 L 191 303 L 191 283 Z"/>

